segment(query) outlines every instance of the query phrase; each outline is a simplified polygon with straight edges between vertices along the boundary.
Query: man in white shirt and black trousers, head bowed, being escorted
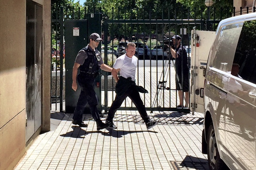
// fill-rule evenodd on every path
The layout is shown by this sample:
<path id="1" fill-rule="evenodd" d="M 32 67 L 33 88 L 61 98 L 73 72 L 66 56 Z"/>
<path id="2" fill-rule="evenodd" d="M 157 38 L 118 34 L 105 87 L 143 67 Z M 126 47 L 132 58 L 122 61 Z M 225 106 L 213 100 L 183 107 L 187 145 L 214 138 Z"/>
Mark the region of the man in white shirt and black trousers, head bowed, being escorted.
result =
<path id="1" fill-rule="evenodd" d="M 139 92 L 147 93 L 147 90 L 135 84 L 135 72 L 138 64 L 138 58 L 134 56 L 135 52 L 135 43 L 128 42 L 126 46 L 126 53 L 118 57 L 113 65 L 111 73 L 117 84 L 116 98 L 109 109 L 106 120 L 106 124 L 109 124 L 109 128 L 117 128 L 113 123 L 113 117 L 126 97 L 131 98 L 132 102 L 135 104 L 140 116 L 146 123 L 147 129 L 157 125 L 159 122 L 158 120 L 150 120 L 149 116 L 147 115 L 145 105 L 140 98 Z M 120 77 L 117 76 L 116 69 L 120 69 Z"/>

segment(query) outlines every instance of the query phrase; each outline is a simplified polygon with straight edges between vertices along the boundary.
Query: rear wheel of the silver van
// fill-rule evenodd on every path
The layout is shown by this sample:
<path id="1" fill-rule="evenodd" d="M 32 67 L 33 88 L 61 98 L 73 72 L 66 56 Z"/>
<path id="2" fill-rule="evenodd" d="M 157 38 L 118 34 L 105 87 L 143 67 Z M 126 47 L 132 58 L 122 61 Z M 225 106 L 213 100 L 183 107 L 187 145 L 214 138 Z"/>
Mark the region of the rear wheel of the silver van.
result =
<path id="1" fill-rule="evenodd" d="M 208 165 L 211 170 L 228 169 L 226 164 L 220 159 L 220 154 L 217 148 L 215 131 L 213 124 L 209 126 L 207 135 L 207 157 Z"/>

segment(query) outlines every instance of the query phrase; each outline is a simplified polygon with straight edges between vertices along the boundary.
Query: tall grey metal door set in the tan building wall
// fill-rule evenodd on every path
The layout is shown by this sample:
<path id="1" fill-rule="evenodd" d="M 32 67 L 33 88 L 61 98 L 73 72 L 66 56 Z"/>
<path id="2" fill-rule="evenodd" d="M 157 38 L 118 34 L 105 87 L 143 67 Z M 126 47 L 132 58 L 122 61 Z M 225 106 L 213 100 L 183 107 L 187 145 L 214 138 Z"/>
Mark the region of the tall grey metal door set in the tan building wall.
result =
<path id="1" fill-rule="evenodd" d="M 41 126 L 43 8 L 26 4 L 26 141 Z"/>

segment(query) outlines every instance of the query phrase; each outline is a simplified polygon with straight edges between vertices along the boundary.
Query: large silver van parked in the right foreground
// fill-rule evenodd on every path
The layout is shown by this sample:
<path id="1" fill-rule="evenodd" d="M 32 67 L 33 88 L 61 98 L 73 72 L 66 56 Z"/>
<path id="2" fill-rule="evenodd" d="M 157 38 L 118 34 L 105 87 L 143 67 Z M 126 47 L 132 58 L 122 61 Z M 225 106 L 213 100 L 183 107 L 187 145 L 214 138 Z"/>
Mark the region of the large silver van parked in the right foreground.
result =
<path id="1" fill-rule="evenodd" d="M 256 13 L 222 20 L 205 70 L 202 153 L 209 168 L 256 168 Z"/>

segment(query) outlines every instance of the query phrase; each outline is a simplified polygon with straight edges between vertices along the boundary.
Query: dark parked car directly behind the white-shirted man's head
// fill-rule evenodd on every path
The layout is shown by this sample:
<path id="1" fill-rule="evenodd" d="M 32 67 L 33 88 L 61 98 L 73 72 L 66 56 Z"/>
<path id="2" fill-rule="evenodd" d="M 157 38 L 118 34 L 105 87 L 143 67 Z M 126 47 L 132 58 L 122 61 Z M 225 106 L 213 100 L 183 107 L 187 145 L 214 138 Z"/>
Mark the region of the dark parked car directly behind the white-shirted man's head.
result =
<path id="1" fill-rule="evenodd" d="M 119 57 L 120 55 L 123 55 L 126 53 L 125 48 L 128 42 L 121 42 L 119 43 L 118 47 L 117 47 L 117 57 Z M 135 52 L 135 56 L 137 56 L 139 59 L 143 58 L 144 56 L 144 51 L 146 52 L 146 58 L 147 58 L 147 51 L 149 50 L 148 47 L 146 45 L 144 45 L 143 43 L 140 42 L 134 42 L 136 45 L 136 52 Z"/>

